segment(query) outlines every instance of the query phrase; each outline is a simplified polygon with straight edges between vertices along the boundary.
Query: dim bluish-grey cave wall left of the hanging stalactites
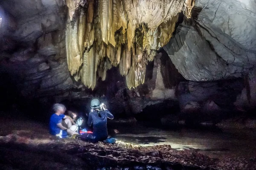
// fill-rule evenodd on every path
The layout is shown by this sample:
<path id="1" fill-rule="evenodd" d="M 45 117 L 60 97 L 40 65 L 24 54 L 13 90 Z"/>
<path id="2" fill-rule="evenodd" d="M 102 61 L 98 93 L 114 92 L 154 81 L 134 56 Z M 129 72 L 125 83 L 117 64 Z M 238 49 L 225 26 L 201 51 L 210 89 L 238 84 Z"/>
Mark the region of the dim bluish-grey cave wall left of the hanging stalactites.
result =
<path id="1" fill-rule="evenodd" d="M 65 49 L 65 2 L 2 0 L 0 6 L 2 100 L 16 91 L 9 103 L 32 107 L 42 96 L 47 98 L 41 105 L 54 102 L 53 96 L 73 86 Z"/>

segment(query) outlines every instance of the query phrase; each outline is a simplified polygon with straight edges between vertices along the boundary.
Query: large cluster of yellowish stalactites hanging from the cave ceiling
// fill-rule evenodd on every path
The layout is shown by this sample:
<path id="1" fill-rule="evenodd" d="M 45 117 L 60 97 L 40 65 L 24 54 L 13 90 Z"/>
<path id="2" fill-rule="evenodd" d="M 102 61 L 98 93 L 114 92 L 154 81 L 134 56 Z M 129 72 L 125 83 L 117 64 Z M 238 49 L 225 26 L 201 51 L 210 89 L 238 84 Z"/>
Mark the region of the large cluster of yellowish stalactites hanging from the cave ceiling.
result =
<path id="1" fill-rule="evenodd" d="M 144 83 L 145 66 L 169 42 L 183 11 L 194 0 L 66 0 L 67 62 L 71 75 L 88 88 L 119 66 L 129 89 Z"/>

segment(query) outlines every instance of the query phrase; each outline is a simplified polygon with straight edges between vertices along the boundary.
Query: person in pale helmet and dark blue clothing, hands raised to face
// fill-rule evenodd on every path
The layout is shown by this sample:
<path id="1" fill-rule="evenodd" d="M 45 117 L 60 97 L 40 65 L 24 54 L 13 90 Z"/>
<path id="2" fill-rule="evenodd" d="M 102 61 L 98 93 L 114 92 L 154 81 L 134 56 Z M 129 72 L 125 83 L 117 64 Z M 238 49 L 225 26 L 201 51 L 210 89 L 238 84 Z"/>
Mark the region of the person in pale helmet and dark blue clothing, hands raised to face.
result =
<path id="1" fill-rule="evenodd" d="M 105 104 L 100 104 L 99 99 L 91 101 L 90 108 L 92 109 L 88 116 L 88 126 L 93 125 L 92 134 L 83 134 L 81 140 L 87 142 L 99 142 L 108 138 L 107 119 L 113 119 L 114 116 L 108 111 Z"/>

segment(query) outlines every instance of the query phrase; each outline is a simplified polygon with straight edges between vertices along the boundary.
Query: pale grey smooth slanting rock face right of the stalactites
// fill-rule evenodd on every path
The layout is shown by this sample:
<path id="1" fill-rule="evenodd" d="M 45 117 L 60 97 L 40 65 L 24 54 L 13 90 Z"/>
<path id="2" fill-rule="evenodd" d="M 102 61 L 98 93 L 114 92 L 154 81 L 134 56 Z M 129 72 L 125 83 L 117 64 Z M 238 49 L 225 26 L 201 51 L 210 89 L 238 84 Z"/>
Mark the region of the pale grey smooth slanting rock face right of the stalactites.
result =
<path id="1" fill-rule="evenodd" d="M 188 80 L 244 77 L 256 65 L 255 9 L 255 0 L 197 0 L 164 49 Z"/>

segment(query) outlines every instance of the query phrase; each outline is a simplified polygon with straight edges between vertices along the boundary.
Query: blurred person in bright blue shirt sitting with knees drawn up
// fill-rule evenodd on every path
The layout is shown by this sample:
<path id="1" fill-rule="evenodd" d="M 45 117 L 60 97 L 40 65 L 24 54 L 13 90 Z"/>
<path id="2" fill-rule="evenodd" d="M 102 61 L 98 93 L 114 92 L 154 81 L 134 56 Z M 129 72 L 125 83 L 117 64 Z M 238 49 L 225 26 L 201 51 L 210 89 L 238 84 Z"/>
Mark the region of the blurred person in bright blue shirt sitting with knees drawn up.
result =
<path id="1" fill-rule="evenodd" d="M 64 115 L 66 107 L 56 103 L 53 105 L 54 114 L 52 114 L 49 122 L 50 133 L 60 138 L 67 138 L 76 135 L 74 132 L 76 124 L 70 116 Z"/>

